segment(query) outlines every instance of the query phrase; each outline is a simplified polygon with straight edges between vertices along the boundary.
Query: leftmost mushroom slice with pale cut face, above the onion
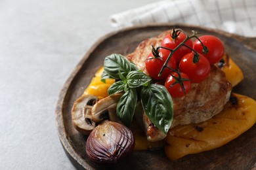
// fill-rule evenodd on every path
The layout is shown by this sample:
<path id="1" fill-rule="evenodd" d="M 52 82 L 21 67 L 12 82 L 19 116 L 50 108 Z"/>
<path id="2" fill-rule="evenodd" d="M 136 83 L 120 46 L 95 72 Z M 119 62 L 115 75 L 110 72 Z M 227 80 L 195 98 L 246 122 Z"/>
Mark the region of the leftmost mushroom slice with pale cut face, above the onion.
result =
<path id="1" fill-rule="evenodd" d="M 96 101 L 98 97 L 95 95 L 82 95 L 75 101 L 72 108 L 72 124 L 77 131 L 85 135 L 89 135 L 96 127 L 91 115 L 91 109 Z"/>

